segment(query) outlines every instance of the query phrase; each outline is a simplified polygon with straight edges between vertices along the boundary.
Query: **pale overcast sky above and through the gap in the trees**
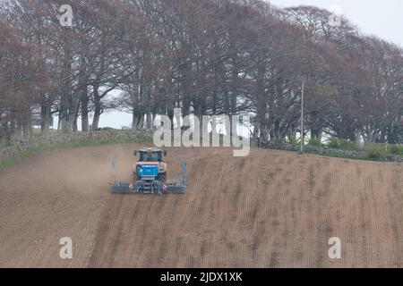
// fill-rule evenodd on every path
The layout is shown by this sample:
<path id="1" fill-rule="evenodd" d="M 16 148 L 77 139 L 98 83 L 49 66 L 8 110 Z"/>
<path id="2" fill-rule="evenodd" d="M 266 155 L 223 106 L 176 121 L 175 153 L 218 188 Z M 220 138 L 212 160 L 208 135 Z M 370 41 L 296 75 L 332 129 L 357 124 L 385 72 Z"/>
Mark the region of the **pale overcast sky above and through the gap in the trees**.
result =
<path id="1" fill-rule="evenodd" d="M 313 5 L 345 15 L 365 35 L 375 35 L 403 47 L 402 0 L 270 0 L 279 7 Z M 99 127 L 131 126 L 132 115 L 102 114 Z M 56 122 L 55 122 L 56 123 Z"/>

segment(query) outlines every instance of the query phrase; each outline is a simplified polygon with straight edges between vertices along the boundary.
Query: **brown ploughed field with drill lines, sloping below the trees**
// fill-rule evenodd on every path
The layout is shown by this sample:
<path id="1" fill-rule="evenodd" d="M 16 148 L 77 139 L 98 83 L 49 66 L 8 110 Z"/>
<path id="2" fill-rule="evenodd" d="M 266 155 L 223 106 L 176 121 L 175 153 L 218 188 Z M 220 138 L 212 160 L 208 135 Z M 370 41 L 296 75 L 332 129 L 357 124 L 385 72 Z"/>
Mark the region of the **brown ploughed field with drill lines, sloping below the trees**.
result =
<path id="1" fill-rule="evenodd" d="M 0 171 L 0 267 L 403 267 L 403 165 L 167 148 L 185 195 L 112 195 L 133 149 L 55 150 Z M 61 259 L 59 240 L 73 240 Z M 328 256 L 341 240 L 341 259 Z"/>

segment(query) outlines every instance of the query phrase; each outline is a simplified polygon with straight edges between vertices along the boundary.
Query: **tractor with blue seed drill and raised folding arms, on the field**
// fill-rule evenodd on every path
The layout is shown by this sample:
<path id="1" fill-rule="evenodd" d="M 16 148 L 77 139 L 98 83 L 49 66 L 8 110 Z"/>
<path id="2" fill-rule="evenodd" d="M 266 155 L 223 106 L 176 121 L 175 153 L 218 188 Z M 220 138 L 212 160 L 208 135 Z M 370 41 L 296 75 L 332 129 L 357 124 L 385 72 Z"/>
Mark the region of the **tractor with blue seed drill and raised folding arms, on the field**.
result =
<path id="1" fill-rule="evenodd" d="M 159 148 L 142 148 L 133 152 L 138 156 L 138 162 L 133 168 L 133 182 L 126 183 L 116 180 L 115 160 L 112 164 L 114 174 L 112 176 L 112 193 L 132 194 L 184 194 L 189 178 L 186 173 L 186 162 L 182 164 L 181 177 L 173 182 L 167 182 L 167 163 L 164 156 L 167 151 Z"/>

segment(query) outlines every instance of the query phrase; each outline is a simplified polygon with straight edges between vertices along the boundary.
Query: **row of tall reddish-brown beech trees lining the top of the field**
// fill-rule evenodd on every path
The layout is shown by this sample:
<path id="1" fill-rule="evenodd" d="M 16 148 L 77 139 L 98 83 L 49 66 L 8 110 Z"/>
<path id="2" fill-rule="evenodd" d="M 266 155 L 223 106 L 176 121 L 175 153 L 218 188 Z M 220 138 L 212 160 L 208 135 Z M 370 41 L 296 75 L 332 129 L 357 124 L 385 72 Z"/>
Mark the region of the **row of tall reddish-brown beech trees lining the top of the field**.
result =
<path id="1" fill-rule="evenodd" d="M 60 25 L 62 4 L 72 6 L 71 27 Z M 107 110 L 151 128 L 159 114 L 174 124 L 179 107 L 183 116 L 251 114 L 260 139 L 403 143 L 402 48 L 331 16 L 260 0 L 8 1 L 2 134 L 30 138 L 36 114 L 44 135 L 53 116 L 60 132 L 98 130 Z"/>

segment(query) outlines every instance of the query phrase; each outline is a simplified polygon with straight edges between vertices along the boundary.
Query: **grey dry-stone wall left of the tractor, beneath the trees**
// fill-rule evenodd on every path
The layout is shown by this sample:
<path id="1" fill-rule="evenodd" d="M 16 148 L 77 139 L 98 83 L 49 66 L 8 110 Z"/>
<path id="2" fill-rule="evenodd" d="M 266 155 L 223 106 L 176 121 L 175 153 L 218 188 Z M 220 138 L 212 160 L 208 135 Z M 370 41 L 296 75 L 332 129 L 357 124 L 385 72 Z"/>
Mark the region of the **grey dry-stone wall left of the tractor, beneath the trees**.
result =
<path id="1" fill-rule="evenodd" d="M 48 146 L 58 143 L 68 143 L 77 140 L 90 140 L 94 142 L 105 142 L 112 140 L 122 140 L 122 139 L 137 139 L 143 136 L 152 136 L 152 130 L 105 130 L 96 132 L 72 132 L 69 134 L 52 134 L 46 137 L 38 137 L 29 140 L 17 140 L 13 143 L 11 147 L 5 147 L 0 149 L 0 161 L 18 156 L 21 152 L 26 151 L 31 148 Z"/>

